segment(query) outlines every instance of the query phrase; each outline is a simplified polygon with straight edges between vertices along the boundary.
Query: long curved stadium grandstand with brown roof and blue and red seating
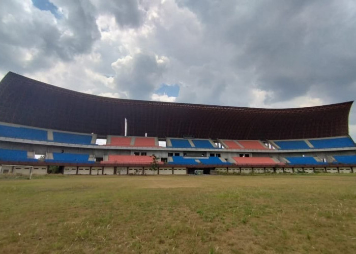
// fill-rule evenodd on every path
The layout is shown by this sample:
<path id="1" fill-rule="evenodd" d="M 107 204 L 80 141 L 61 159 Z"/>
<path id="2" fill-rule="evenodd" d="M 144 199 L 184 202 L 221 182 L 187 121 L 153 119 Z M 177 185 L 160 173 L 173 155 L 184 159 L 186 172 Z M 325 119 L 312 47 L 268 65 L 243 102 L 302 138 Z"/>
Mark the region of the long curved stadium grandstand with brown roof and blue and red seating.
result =
<path id="1" fill-rule="evenodd" d="M 0 173 L 356 173 L 353 102 L 260 109 L 113 99 L 9 72 Z"/>

